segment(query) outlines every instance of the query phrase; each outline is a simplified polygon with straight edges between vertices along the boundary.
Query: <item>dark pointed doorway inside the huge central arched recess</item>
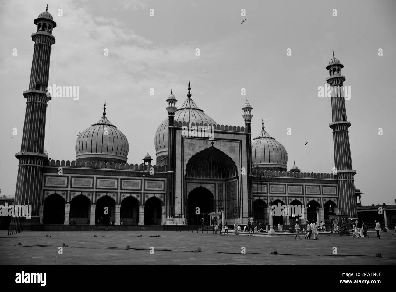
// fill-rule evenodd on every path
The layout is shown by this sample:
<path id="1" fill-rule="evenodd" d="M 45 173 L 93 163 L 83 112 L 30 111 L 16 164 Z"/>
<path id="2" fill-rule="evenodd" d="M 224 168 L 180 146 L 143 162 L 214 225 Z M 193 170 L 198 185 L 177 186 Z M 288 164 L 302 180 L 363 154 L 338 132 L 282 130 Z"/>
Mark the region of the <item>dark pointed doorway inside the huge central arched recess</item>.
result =
<path id="1" fill-rule="evenodd" d="M 195 214 L 196 207 L 200 214 Z M 187 222 L 188 224 L 201 225 L 204 217 L 205 225 L 210 224 L 209 212 L 215 212 L 215 197 L 212 192 L 204 187 L 197 187 L 190 191 L 187 197 Z"/>

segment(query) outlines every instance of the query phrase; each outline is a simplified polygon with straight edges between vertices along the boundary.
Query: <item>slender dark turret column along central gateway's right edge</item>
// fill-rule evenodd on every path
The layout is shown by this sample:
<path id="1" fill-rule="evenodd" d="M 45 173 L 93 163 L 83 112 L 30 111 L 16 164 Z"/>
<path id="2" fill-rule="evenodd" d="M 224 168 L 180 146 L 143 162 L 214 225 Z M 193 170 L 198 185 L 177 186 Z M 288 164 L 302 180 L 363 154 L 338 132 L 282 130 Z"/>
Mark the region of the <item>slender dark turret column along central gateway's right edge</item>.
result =
<path id="1" fill-rule="evenodd" d="M 242 110 L 244 111 L 244 115 L 242 116 L 245 121 L 245 131 L 246 131 L 246 157 L 247 157 L 247 216 L 249 218 L 253 217 L 253 200 L 252 200 L 252 189 L 253 189 L 253 177 L 251 174 L 252 170 L 252 159 L 251 159 L 251 118 L 253 115 L 251 114 L 251 110 L 253 107 L 247 102 Z M 263 121 L 264 124 L 264 121 Z M 240 216 L 242 217 L 242 216 Z"/>

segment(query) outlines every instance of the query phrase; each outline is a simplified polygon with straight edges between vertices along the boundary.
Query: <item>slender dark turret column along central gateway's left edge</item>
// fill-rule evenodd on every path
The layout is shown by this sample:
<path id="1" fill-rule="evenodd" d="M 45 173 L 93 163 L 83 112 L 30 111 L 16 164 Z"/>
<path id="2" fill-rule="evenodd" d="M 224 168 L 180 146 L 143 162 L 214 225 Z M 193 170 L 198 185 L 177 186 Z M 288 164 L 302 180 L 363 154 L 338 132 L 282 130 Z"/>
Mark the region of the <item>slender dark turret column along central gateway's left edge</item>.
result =
<path id="1" fill-rule="evenodd" d="M 188 94 L 190 97 L 190 79 L 188 79 Z M 173 91 L 171 90 L 171 94 L 166 99 L 168 103 L 168 107 L 166 110 L 168 111 L 168 172 L 166 174 L 166 225 L 173 224 L 173 217 L 175 216 L 175 167 L 176 167 L 176 130 L 175 130 L 175 112 L 176 112 L 176 102 L 177 99 L 173 95 Z"/>

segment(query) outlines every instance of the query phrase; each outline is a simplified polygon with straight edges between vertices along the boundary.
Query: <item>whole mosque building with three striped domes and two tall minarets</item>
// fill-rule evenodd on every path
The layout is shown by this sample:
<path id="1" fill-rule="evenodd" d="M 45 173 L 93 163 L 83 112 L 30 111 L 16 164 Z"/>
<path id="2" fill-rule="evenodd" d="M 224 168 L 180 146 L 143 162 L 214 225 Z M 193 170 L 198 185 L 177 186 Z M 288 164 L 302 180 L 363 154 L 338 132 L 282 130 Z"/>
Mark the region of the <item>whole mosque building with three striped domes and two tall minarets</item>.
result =
<path id="1" fill-rule="evenodd" d="M 76 160 L 48 159 L 44 136 L 51 96 L 46 89 L 56 28 L 48 6 L 34 24 L 29 89 L 23 92 L 23 139 L 15 154 L 19 168 L 14 202 L 32 205 L 30 225 L 69 225 L 71 220 L 76 225 L 190 225 L 202 220 L 246 224 L 253 218 L 263 222 L 274 204 L 305 206 L 303 216 L 274 216 L 274 224 L 288 225 L 296 218 L 357 218 L 361 192 L 354 186 L 343 95 L 331 97 L 332 174 L 303 172 L 295 163 L 288 171 L 287 151 L 267 132 L 264 119 L 261 132 L 252 136 L 253 108 L 247 100 L 243 125 L 218 124 L 193 101 L 190 80 L 180 106 L 173 92 L 166 99 L 167 116 L 164 112 L 154 136 L 155 163 L 148 152 L 142 164 L 127 163 L 128 139 L 110 122 L 108 114 L 113 121 L 117 116 L 114 110 L 106 112 L 106 104 L 97 122 L 86 130 L 75 129 L 82 130 Z M 326 67 L 329 86 L 343 85 L 342 68 L 333 55 Z M 213 135 L 197 135 L 198 129 Z"/>

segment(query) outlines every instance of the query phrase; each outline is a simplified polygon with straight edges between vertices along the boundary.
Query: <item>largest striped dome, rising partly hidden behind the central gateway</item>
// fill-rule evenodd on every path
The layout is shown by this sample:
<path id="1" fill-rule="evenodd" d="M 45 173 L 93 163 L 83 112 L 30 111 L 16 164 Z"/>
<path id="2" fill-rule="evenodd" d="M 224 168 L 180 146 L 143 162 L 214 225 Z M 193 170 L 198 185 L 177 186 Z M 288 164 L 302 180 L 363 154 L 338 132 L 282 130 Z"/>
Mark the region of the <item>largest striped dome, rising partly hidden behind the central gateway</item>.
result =
<path id="1" fill-rule="evenodd" d="M 186 122 L 186 123 L 202 123 L 202 124 L 212 124 L 217 125 L 217 123 L 206 113 L 200 109 L 196 103 L 191 99 L 190 93 L 190 84 L 188 84 L 188 94 L 187 99 L 183 102 L 183 104 L 176 110 L 175 112 L 175 122 Z M 169 98 L 175 98 L 173 94 L 169 95 Z M 169 119 L 168 117 L 163 120 L 158 127 L 155 137 L 154 137 L 154 145 L 156 151 L 156 157 L 160 157 L 163 155 L 168 155 L 168 125 Z M 158 160 L 157 160 L 158 164 Z"/>

